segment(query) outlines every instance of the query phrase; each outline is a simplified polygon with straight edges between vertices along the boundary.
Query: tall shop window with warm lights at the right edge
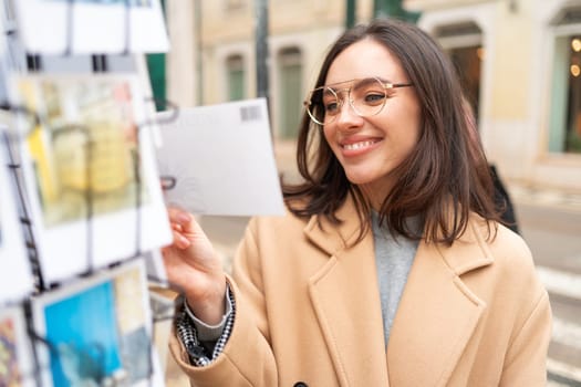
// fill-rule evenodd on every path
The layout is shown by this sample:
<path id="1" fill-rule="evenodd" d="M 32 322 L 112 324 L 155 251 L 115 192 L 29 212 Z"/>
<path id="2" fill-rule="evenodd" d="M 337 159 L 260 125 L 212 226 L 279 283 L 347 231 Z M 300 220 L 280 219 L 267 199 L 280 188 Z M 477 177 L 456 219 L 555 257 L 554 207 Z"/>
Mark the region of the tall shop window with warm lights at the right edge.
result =
<path id="1" fill-rule="evenodd" d="M 581 8 L 554 23 L 549 151 L 581 154 Z"/>

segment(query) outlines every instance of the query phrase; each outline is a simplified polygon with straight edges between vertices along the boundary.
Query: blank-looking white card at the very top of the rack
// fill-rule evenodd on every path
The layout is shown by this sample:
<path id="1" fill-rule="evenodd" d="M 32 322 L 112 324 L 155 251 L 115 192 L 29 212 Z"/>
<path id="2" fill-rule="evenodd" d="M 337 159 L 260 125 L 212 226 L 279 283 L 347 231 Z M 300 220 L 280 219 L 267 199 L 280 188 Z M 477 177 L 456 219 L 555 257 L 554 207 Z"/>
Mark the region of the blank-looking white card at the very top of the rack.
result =
<path id="1" fill-rule="evenodd" d="M 18 0 L 19 32 L 38 54 L 167 52 L 159 0 Z"/>

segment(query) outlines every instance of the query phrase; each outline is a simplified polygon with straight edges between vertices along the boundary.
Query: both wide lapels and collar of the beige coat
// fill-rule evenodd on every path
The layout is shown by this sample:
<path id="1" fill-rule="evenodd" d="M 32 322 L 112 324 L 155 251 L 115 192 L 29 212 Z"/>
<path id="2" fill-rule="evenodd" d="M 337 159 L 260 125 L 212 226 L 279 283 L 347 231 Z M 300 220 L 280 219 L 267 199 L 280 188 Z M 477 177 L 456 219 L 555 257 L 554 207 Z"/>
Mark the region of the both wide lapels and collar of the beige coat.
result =
<path id="1" fill-rule="evenodd" d="M 304 232 L 330 257 L 309 292 L 341 386 L 445 385 L 486 307 L 460 279 L 492 262 L 481 228 L 470 221 L 452 247 L 419 243 L 386 351 L 373 236 L 353 245 L 351 199 L 338 217 L 339 227 L 312 217 Z"/>

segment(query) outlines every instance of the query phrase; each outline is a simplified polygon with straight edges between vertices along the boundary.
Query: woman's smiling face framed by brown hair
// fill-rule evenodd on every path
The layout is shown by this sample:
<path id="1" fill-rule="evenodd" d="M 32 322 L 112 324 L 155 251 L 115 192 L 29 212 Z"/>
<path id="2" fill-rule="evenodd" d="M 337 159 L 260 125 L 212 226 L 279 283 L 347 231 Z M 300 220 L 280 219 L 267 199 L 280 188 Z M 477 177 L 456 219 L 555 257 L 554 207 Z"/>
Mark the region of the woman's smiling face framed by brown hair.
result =
<path id="1" fill-rule="evenodd" d="M 338 91 L 341 108 L 323 130 L 347 179 L 360 186 L 373 208 L 378 209 L 393 187 L 391 172 L 417 144 L 421 107 L 414 87 L 397 87 L 387 90 L 378 114 L 357 115 L 346 90 L 357 84 L 352 80 L 367 77 L 394 84 L 409 82 L 398 60 L 380 43 L 364 39 L 350 45 L 335 57 L 326 75 L 325 85 Z M 352 100 L 355 94 L 352 90 Z"/>

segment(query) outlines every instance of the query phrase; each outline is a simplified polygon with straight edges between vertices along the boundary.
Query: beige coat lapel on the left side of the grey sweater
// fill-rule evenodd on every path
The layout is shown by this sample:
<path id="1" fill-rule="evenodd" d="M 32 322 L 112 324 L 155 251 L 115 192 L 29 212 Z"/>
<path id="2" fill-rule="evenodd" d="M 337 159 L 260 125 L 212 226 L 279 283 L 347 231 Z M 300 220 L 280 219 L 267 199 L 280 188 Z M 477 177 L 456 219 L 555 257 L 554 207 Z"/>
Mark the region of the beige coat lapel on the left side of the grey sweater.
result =
<path id="1" fill-rule="evenodd" d="M 311 301 L 341 386 L 387 386 L 373 238 L 367 232 L 350 248 L 360 230 L 354 208 L 344 206 L 339 216 L 351 219 L 339 230 L 317 217 L 305 228 L 330 257 L 310 279 Z"/>

